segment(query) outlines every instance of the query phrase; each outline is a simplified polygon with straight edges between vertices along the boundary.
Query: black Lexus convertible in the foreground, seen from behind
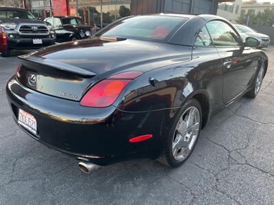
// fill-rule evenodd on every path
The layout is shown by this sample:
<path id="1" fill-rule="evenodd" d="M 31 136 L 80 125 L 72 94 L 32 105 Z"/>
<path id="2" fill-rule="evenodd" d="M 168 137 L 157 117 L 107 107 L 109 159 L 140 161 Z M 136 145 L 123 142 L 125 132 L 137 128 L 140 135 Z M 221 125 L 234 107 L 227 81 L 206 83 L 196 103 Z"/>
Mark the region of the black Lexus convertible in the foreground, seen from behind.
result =
<path id="1" fill-rule="evenodd" d="M 211 115 L 257 96 L 259 43 L 218 16 L 131 16 L 21 56 L 6 92 L 18 126 L 86 173 L 134 158 L 176 167 Z"/>

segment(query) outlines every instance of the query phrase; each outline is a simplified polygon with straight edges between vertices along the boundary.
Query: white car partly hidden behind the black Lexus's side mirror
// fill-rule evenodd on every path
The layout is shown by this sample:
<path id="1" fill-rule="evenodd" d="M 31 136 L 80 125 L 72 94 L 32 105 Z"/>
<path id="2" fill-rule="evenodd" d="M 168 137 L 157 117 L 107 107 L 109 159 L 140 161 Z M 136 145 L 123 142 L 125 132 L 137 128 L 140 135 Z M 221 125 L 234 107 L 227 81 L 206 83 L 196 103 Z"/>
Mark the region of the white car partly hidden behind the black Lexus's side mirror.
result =
<path id="1" fill-rule="evenodd" d="M 260 48 L 269 46 L 270 38 L 264 33 L 258 33 L 256 30 L 251 29 L 245 25 L 234 24 L 234 27 L 240 33 L 240 37 L 242 38 L 243 42 L 245 42 L 247 37 L 254 37 L 260 41 Z"/>

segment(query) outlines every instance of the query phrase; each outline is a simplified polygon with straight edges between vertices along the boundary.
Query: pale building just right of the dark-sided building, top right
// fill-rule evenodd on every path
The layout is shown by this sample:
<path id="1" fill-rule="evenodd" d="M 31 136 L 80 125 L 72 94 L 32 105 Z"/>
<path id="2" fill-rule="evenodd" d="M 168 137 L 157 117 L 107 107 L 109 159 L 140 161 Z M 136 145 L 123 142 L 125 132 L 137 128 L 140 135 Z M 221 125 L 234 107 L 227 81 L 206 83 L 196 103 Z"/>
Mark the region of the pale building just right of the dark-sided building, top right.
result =
<path id="1" fill-rule="evenodd" d="M 217 15 L 235 23 L 240 17 L 241 4 L 242 0 L 220 2 Z"/>

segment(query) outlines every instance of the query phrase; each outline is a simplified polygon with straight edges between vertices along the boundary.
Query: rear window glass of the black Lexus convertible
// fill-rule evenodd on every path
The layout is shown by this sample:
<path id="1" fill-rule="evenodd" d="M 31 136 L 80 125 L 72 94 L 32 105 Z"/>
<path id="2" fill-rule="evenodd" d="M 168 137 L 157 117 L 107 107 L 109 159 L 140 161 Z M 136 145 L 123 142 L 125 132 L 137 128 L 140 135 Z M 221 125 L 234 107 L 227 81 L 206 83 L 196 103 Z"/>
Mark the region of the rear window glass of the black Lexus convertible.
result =
<path id="1" fill-rule="evenodd" d="M 135 16 L 116 21 L 97 36 L 165 42 L 187 20 L 180 16 Z"/>

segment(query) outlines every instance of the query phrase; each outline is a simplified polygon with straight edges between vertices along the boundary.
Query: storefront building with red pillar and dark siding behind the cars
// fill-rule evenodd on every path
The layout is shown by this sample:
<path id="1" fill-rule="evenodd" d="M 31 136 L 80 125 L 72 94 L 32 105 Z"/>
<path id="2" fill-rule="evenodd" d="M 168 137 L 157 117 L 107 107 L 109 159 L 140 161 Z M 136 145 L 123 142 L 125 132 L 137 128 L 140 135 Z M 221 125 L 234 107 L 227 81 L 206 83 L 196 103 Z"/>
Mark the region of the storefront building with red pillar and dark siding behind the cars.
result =
<path id="1" fill-rule="evenodd" d="M 216 14 L 218 0 L 31 0 L 31 5 L 39 18 L 81 16 L 89 25 L 104 27 L 136 14 Z"/>

